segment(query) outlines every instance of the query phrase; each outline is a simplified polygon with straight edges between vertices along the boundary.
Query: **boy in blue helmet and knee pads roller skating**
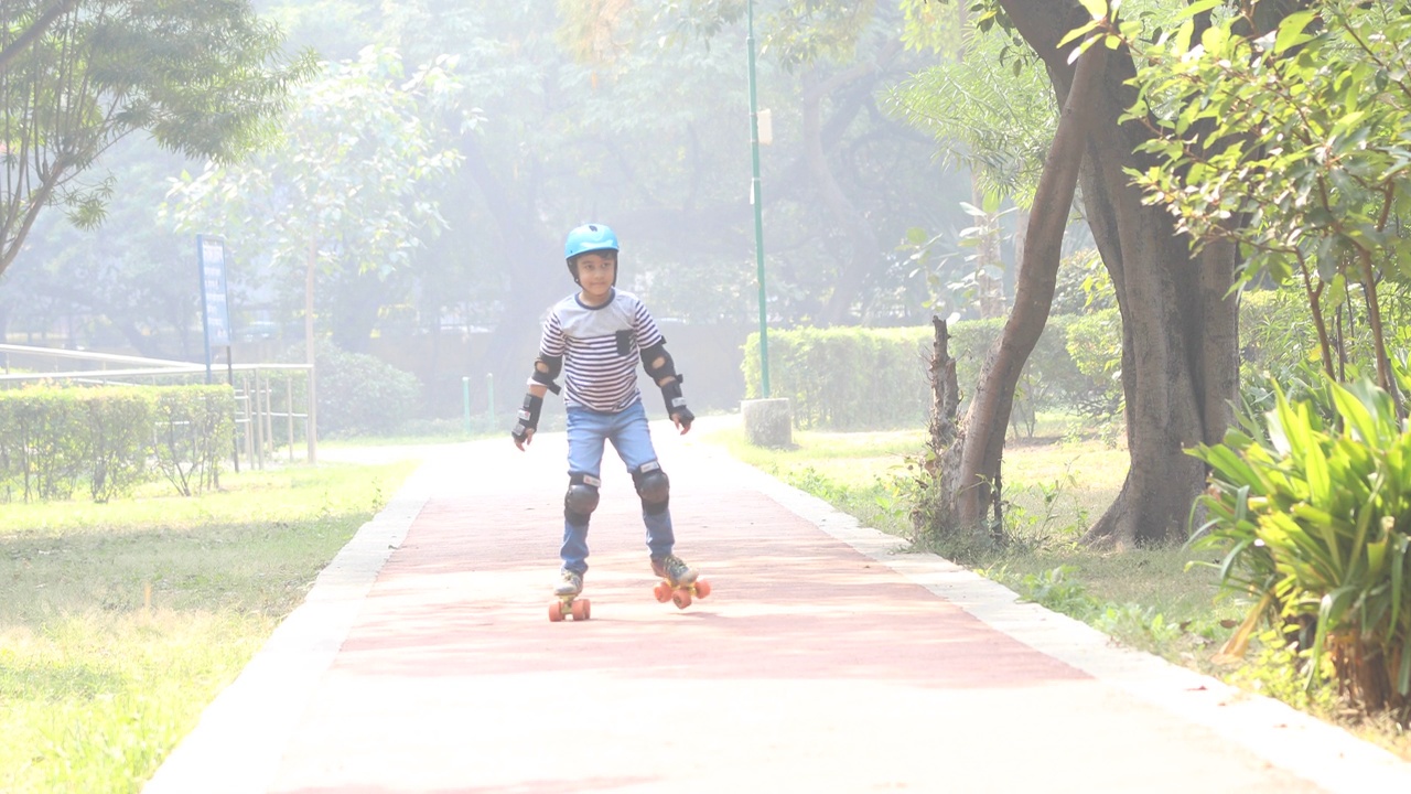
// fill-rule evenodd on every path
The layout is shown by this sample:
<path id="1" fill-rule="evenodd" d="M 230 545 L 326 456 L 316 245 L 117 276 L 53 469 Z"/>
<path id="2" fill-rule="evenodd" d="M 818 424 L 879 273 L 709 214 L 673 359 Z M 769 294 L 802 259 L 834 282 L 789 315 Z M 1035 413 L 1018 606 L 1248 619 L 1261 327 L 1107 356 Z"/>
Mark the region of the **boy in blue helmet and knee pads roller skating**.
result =
<path id="1" fill-rule="evenodd" d="M 682 376 L 676 374 L 663 346 L 666 339 L 642 301 L 615 288 L 618 240 L 612 229 L 601 223 L 579 226 L 569 232 L 563 256 L 580 291 L 555 304 L 545 319 L 529 393 L 511 431 L 519 449 L 533 441 L 543 396 L 559 393 L 555 379 L 563 372 L 569 492 L 563 497 L 562 582 L 555 595 L 564 598 L 583 592 L 583 574 L 588 569 L 588 517 L 598 506 L 604 441 L 611 441 L 626 463 L 642 499 L 652 572 L 673 588 L 690 586 L 698 574 L 672 554 L 676 537 L 667 510 L 669 483 L 652 448 L 636 387 L 636 362 L 642 360 L 646 374 L 662 389 L 666 411 L 684 435 L 696 417 L 682 397 Z"/>

